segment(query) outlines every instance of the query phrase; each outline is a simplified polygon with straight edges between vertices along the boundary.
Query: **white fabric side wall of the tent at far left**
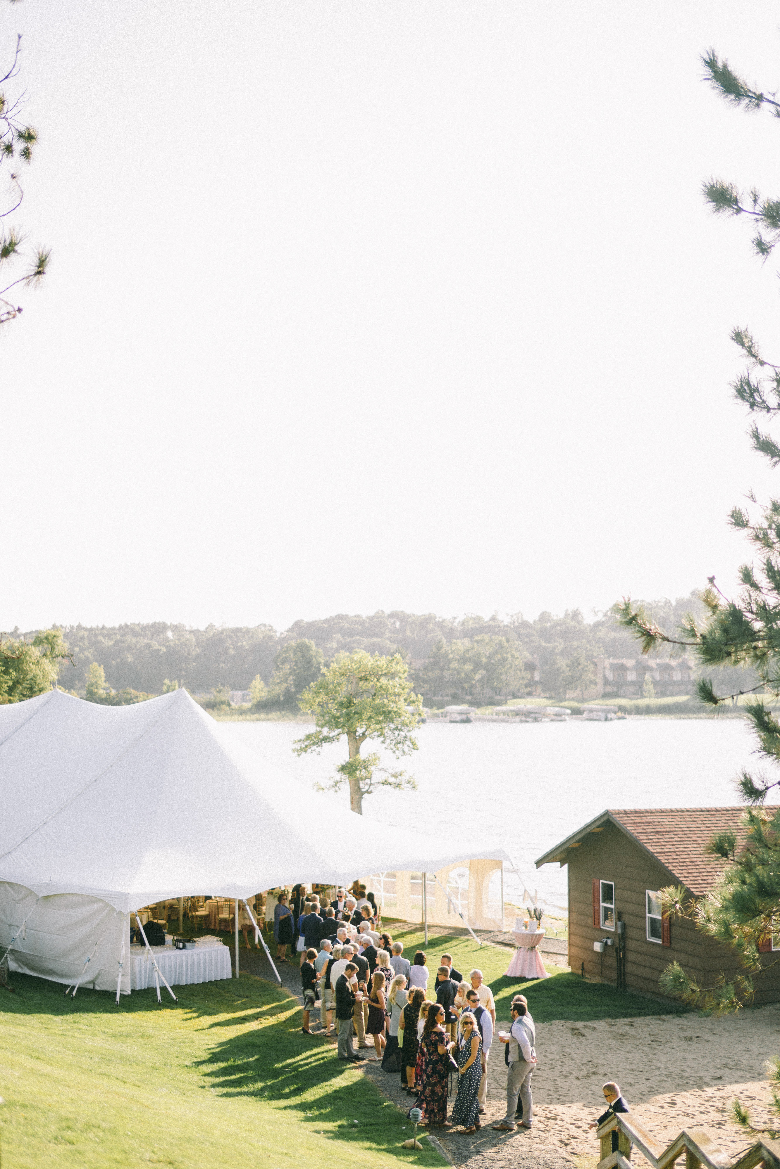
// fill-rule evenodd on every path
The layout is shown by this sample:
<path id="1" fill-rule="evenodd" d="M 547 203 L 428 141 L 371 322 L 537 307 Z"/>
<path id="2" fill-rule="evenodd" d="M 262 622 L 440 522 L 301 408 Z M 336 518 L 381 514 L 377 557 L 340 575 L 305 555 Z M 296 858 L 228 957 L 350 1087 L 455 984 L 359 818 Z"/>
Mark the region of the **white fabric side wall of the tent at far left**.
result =
<path id="1" fill-rule="evenodd" d="M 32 911 L 32 912 L 30 912 Z M 8 968 L 53 982 L 71 984 L 84 973 L 82 985 L 97 990 L 117 988 L 119 953 L 125 942 L 122 994 L 130 994 L 130 918 L 95 897 L 55 893 L 42 897 L 23 885 L 0 881 L 0 947 L 11 939 L 29 914 L 23 936 L 14 942 Z"/>

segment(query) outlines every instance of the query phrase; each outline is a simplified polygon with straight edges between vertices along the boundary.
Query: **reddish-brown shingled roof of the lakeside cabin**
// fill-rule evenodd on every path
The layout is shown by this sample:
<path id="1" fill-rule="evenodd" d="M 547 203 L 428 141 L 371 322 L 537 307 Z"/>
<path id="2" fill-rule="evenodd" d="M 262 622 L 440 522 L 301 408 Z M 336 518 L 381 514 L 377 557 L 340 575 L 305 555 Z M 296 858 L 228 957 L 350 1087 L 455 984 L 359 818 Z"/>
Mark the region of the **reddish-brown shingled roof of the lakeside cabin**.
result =
<path id="1" fill-rule="evenodd" d="M 768 812 L 776 807 L 767 807 Z M 622 808 L 609 816 L 651 852 L 691 893 L 706 893 L 724 869 L 719 857 L 704 852 L 716 832 L 734 831 L 744 838 L 745 808 Z"/>

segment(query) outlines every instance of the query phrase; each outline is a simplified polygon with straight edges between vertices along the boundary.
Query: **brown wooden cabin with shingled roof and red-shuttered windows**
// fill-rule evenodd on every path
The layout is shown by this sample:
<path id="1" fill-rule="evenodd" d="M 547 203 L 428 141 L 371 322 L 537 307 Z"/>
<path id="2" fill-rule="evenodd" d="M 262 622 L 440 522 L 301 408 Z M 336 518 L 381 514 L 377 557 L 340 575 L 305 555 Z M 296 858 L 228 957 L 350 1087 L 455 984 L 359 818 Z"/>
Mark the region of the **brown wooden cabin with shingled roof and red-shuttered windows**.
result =
<path id="1" fill-rule="evenodd" d="M 775 809 L 767 808 L 767 811 Z M 710 985 L 718 971 L 726 981 L 745 973 L 730 950 L 691 921 L 661 915 L 657 892 L 684 885 L 695 897 L 707 893 L 724 869 L 704 849 L 720 831 L 744 835 L 744 807 L 631 808 L 603 811 L 537 860 L 568 865 L 568 964 L 605 982 L 617 981 L 619 932 L 624 932 L 623 983 L 628 990 L 660 994 L 658 977 L 677 961 Z M 594 949 L 603 942 L 602 949 Z M 612 942 L 613 945 L 608 945 Z M 775 948 L 775 953 L 768 953 Z M 780 938 L 761 943 L 761 961 L 780 956 Z M 754 1003 L 780 1001 L 780 963 L 754 976 Z"/>

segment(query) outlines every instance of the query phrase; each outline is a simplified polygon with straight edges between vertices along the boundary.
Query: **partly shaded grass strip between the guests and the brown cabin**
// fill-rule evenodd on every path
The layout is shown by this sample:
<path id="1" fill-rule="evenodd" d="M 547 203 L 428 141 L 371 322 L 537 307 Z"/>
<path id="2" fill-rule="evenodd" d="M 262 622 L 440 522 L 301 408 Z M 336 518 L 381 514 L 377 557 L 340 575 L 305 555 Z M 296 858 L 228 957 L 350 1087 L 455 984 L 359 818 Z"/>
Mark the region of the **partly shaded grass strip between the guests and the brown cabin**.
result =
<path id="1" fill-rule="evenodd" d="M 615 990 L 602 982 L 586 982 L 579 974 L 559 966 L 545 966 L 551 978 L 538 978 L 533 982 L 520 982 L 518 978 L 504 978 L 504 970 L 510 963 L 512 952 L 498 946 L 477 946 L 469 935 L 442 934 L 440 931 L 428 932 L 428 946 L 423 943 L 422 929 L 419 926 L 401 929 L 392 921 L 386 921 L 386 928 L 395 941 L 403 942 L 403 956 L 409 961 L 415 950 L 423 950 L 430 969 L 428 989 L 432 990 L 436 967 L 441 955 L 453 955 L 455 968 L 468 978 L 474 969 L 482 970 L 485 982 L 490 985 L 496 999 L 498 1019 L 509 1021 L 509 1004 L 518 990 L 529 999 L 529 1009 L 538 1023 L 552 1019 L 577 1019 L 587 1023 L 593 1019 L 637 1018 L 641 1015 L 676 1015 L 684 1008 L 676 1003 L 656 1002 L 628 990 Z M 429 994 L 429 998 L 434 995 Z"/>

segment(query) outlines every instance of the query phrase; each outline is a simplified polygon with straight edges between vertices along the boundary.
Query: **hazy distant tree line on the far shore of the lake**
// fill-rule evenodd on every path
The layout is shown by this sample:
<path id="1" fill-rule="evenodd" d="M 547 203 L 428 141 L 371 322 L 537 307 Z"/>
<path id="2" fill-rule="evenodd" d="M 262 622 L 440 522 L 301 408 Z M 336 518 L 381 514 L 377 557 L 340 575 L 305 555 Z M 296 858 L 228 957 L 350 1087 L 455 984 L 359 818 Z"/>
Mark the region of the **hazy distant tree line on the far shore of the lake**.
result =
<path id="1" fill-rule="evenodd" d="M 646 602 L 644 610 L 671 635 L 685 613 L 700 614 L 702 603 L 691 594 L 674 602 Z M 96 665 L 103 670 L 91 687 L 102 694 L 96 700 L 119 701 L 111 696 L 124 692 L 124 700 L 138 701 L 137 696 L 159 694 L 184 683 L 192 692 L 210 693 L 207 703 L 213 706 L 226 705 L 230 690 L 243 690 L 251 692 L 253 705 L 269 710 L 297 708 L 298 697 L 339 652 L 401 653 L 419 693 L 472 701 L 485 701 L 496 692 L 529 692 L 536 669 L 544 694 L 587 689 L 594 657 L 634 658 L 639 652 L 631 632 L 615 623 L 612 610 L 592 621 L 579 609 L 562 616 L 540 613 L 534 620 L 519 613 L 503 618 L 401 610 L 337 614 L 296 621 L 284 632 L 271 625 L 187 629 L 166 622 L 56 629 L 57 648 L 65 644 L 70 655 L 57 659 L 58 684 L 65 690 L 85 694 L 90 669 Z M 16 652 L 13 645 L 32 644 L 41 632 L 15 629 L 0 636 L 8 651 Z M 11 667 L 18 659 L 5 660 Z M 51 669 L 37 653 L 35 660 L 37 669 Z"/>

